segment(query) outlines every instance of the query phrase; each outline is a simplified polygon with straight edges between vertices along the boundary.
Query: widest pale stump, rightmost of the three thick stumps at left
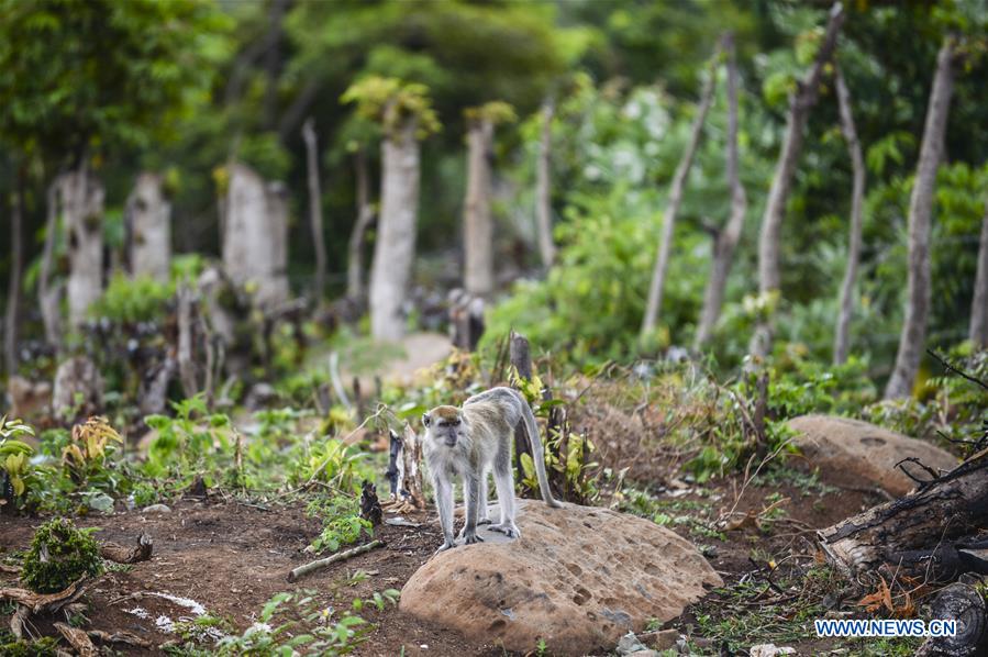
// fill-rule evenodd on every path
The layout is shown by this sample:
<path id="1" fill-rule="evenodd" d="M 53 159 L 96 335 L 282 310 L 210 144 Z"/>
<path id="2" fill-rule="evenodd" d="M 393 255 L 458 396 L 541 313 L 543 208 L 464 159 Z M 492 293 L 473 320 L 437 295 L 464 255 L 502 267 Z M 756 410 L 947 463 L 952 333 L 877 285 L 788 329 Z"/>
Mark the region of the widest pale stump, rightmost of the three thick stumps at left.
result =
<path id="1" fill-rule="evenodd" d="M 271 307 L 288 298 L 288 207 L 285 188 L 233 164 L 223 222 L 223 269 L 237 286 L 254 289 L 254 302 Z"/>

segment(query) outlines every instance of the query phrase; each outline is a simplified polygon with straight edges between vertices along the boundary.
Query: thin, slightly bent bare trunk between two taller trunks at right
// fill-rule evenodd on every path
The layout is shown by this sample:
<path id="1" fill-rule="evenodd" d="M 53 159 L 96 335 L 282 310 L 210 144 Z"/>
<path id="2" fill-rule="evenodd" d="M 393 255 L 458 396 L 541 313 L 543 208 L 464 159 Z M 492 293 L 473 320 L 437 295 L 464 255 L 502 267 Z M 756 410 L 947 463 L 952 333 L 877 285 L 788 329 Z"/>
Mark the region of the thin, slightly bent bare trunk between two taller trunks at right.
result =
<path id="1" fill-rule="evenodd" d="M 841 285 L 841 303 L 837 325 L 834 332 L 834 365 L 847 360 L 850 350 L 851 315 L 854 311 L 854 283 L 857 280 L 857 266 L 861 261 L 862 248 L 862 213 L 865 203 L 865 159 L 862 156 L 861 142 L 854 126 L 854 114 L 851 112 L 851 94 L 841 69 L 834 66 L 834 79 L 837 86 L 837 108 L 841 112 L 841 131 L 851 153 L 851 168 L 854 182 L 851 190 L 851 241 L 847 246 L 847 268 L 844 270 L 844 282 Z"/>

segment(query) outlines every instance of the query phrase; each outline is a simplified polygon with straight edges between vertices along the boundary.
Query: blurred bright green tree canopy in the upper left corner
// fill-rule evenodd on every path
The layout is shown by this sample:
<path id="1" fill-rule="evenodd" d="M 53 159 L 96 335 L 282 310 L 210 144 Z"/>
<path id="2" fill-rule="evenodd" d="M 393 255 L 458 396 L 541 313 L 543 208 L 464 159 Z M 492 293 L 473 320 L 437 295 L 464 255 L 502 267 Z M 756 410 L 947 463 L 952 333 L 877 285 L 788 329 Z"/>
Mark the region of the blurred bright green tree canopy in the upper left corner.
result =
<path id="1" fill-rule="evenodd" d="M 57 156 L 145 145 L 201 100 L 226 25 L 201 0 L 3 0 L 0 138 Z"/>

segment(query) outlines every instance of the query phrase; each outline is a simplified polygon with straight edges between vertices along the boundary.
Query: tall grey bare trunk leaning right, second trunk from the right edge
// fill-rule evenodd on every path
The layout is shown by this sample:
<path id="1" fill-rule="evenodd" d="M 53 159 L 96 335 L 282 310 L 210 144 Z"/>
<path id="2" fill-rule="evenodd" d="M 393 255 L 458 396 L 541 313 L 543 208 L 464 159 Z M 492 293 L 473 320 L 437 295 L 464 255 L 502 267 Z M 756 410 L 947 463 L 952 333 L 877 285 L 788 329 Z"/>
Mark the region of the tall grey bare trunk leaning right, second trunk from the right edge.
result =
<path id="1" fill-rule="evenodd" d="M 936 187 L 936 169 L 943 157 L 943 140 L 951 110 L 954 74 L 951 60 L 954 56 L 953 37 L 947 36 L 936 56 L 936 73 L 923 143 L 917 165 L 915 182 L 909 198 L 909 272 L 907 280 L 906 319 L 899 336 L 896 367 L 885 387 L 885 398 L 909 397 L 920 368 L 926 339 L 926 315 L 930 310 L 930 224 L 933 211 L 933 193 Z"/>

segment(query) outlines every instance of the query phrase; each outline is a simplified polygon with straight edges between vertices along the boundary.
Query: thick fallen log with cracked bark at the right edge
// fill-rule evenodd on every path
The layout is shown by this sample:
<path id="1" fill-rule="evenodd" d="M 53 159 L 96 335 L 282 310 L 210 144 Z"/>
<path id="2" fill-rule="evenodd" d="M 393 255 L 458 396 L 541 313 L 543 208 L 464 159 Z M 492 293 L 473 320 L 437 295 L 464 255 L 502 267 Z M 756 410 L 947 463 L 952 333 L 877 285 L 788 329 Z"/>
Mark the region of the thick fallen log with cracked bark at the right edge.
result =
<path id="1" fill-rule="evenodd" d="M 828 559 L 855 578 L 885 566 L 902 575 L 954 579 L 970 569 L 965 538 L 988 523 L 988 450 L 904 498 L 817 533 Z"/>

